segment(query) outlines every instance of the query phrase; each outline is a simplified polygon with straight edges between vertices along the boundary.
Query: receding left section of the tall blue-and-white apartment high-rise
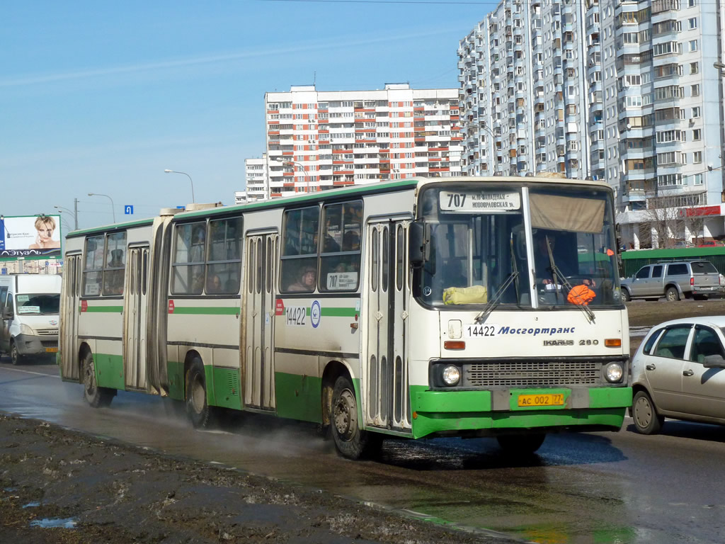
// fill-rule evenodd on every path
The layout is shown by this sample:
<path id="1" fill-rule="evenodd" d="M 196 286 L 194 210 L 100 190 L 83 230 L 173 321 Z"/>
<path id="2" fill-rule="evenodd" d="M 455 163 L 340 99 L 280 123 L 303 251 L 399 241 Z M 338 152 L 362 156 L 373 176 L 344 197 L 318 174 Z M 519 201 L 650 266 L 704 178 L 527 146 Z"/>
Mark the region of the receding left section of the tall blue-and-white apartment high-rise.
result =
<path id="1" fill-rule="evenodd" d="M 582 9 L 503 0 L 460 41 L 466 173 L 591 175 Z"/>

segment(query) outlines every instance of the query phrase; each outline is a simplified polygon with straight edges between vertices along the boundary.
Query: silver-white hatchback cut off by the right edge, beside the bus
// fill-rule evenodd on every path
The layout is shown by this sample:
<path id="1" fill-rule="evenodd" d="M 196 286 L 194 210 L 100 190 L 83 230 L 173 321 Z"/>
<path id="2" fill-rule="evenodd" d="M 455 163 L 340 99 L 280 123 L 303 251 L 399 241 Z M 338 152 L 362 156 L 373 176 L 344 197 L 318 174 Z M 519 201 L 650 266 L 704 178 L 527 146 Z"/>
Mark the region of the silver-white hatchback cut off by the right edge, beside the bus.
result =
<path id="1" fill-rule="evenodd" d="M 725 316 L 654 326 L 632 358 L 631 415 L 642 434 L 665 417 L 725 425 Z"/>

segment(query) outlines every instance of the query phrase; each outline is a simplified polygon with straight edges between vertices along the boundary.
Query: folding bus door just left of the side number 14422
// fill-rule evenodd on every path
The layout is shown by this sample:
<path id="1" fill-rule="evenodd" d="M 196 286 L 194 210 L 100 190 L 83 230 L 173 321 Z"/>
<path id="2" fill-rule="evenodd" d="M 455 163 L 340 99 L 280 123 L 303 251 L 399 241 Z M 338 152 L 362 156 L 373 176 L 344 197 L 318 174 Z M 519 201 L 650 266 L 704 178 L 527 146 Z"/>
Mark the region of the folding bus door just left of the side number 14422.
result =
<path id="1" fill-rule="evenodd" d="M 274 392 L 274 279 L 278 234 L 254 234 L 245 242 L 244 405 L 276 406 Z"/>

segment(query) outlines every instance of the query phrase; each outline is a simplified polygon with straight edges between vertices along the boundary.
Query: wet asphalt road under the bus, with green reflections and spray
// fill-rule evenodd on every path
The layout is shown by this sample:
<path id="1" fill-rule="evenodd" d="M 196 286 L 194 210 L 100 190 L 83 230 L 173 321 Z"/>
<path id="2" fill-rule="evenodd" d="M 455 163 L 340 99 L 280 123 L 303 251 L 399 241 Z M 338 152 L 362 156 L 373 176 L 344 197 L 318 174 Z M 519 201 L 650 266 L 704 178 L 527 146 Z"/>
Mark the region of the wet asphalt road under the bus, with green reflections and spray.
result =
<path id="1" fill-rule="evenodd" d="M 0 360 L 0 411 L 216 461 L 465 527 L 545 543 L 722 543 L 725 428 L 668 421 L 645 437 L 547 437 L 533 461 L 513 463 L 494 440 L 386 442 L 374 461 L 336 455 L 315 427 L 245 416 L 197 432 L 181 405 L 121 392 L 94 410 L 47 365 Z"/>

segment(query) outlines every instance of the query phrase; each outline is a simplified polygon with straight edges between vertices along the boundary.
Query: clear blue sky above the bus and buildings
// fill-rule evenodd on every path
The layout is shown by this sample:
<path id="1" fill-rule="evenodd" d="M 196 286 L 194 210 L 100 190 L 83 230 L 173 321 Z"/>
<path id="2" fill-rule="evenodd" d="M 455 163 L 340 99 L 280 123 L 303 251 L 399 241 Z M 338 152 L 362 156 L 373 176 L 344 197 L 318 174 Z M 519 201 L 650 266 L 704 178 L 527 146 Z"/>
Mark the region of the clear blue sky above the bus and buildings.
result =
<path id="1" fill-rule="evenodd" d="M 265 148 L 264 94 L 457 88 L 489 1 L 22 1 L 0 38 L 0 214 L 80 228 L 233 203 Z M 315 75 L 316 73 L 316 75 Z M 134 206 L 132 217 L 123 215 Z M 72 218 L 63 223 L 64 231 Z"/>

